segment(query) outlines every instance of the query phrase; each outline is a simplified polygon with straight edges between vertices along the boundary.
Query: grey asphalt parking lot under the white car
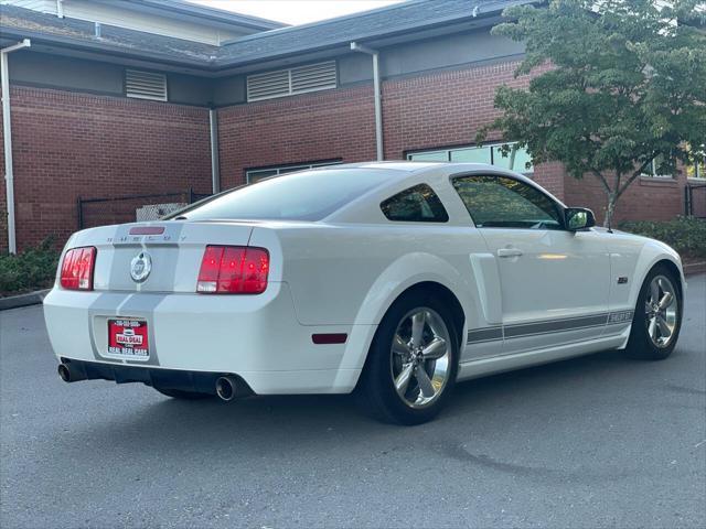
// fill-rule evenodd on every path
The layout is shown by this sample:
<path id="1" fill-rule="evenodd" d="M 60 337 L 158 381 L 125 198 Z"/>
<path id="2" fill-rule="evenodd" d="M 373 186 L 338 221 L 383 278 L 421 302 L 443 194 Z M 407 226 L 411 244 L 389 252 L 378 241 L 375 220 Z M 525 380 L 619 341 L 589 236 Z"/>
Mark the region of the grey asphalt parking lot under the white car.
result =
<path id="1" fill-rule="evenodd" d="M 466 382 L 430 424 L 350 397 L 179 402 L 62 382 L 41 306 L 0 312 L 3 528 L 706 527 L 706 277 L 674 355 Z"/>

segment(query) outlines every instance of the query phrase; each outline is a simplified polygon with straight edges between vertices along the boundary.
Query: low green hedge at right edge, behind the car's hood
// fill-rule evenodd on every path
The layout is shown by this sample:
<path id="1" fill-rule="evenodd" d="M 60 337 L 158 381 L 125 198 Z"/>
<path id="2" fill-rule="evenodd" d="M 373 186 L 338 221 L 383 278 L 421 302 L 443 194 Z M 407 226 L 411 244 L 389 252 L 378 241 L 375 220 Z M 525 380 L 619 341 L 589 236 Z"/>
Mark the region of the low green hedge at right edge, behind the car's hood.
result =
<path id="1" fill-rule="evenodd" d="M 666 242 L 682 257 L 706 257 L 706 219 L 677 217 L 674 220 L 640 220 L 620 229 Z"/>

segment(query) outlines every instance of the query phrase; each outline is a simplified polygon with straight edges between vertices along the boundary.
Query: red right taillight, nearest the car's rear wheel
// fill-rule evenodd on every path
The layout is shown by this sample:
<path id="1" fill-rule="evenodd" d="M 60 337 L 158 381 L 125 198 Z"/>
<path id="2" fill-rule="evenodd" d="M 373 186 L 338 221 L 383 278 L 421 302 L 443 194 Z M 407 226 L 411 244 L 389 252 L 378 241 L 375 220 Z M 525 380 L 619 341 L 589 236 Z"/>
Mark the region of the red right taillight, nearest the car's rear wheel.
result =
<path id="1" fill-rule="evenodd" d="M 267 288 L 269 252 L 249 246 L 206 246 L 196 292 L 260 294 Z"/>

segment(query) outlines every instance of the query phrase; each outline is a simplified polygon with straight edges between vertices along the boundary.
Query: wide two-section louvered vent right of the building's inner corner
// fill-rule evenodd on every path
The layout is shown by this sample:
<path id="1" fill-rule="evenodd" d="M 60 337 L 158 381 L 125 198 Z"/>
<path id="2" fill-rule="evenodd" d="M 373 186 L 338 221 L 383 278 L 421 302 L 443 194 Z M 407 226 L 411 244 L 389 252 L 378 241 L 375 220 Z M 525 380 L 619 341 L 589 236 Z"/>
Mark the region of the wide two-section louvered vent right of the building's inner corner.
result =
<path id="1" fill-rule="evenodd" d="M 247 76 L 247 100 L 260 101 L 338 86 L 335 61 Z"/>

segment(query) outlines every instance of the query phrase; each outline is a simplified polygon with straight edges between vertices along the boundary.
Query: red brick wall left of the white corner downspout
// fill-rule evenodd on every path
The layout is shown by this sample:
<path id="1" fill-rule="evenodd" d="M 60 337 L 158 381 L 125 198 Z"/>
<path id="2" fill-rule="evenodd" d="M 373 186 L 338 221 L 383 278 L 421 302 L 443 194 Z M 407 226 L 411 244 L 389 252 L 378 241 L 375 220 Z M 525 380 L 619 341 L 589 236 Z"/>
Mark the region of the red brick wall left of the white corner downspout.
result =
<path id="1" fill-rule="evenodd" d="M 211 191 L 207 109 L 18 86 L 11 104 L 20 249 L 63 244 L 78 196 Z"/>

